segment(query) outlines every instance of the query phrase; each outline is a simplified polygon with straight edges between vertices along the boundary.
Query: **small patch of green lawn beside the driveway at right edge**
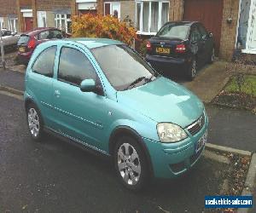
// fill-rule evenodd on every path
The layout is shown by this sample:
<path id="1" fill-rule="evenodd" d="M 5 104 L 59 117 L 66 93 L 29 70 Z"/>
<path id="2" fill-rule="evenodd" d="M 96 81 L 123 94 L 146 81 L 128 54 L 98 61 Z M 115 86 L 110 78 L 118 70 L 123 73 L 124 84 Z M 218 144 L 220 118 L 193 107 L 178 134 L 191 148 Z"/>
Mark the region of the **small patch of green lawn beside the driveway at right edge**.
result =
<path id="1" fill-rule="evenodd" d="M 245 83 L 241 86 L 241 93 L 253 95 L 256 97 L 256 75 L 246 75 Z M 231 78 L 230 82 L 224 88 L 225 92 L 240 93 L 235 78 Z"/>

